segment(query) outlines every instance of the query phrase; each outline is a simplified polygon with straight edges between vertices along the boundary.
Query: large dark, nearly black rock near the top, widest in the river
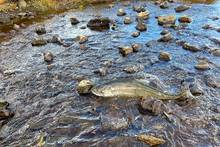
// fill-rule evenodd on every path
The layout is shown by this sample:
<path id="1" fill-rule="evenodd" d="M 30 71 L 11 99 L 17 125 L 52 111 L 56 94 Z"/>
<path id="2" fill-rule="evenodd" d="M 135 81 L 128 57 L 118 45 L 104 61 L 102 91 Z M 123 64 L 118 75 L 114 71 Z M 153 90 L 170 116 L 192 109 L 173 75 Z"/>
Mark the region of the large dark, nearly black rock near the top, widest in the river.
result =
<path id="1" fill-rule="evenodd" d="M 107 17 L 101 17 L 101 18 L 95 18 L 91 19 L 87 27 L 91 30 L 103 30 L 103 29 L 109 29 L 110 28 L 111 20 Z"/>

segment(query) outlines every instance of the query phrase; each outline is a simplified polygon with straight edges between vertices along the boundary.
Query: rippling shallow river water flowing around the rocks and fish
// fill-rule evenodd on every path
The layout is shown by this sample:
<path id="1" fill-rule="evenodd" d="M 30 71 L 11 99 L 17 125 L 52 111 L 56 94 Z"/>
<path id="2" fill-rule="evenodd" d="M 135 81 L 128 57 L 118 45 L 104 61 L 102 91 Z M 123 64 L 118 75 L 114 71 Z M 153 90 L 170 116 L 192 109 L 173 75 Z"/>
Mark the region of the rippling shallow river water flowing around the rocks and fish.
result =
<path id="1" fill-rule="evenodd" d="M 135 20 L 132 6 L 143 4 L 150 19 L 145 23 L 148 30 L 137 38 L 131 37 L 136 22 L 123 24 L 123 17 L 116 16 L 119 8 Z M 90 6 L 83 11 L 68 11 L 50 20 L 31 25 L 18 32 L 11 40 L 0 45 L 0 97 L 10 103 L 15 112 L 0 130 L 1 146 L 36 146 L 43 138 L 45 146 L 146 146 L 136 139 L 138 134 L 153 134 L 166 140 L 161 146 L 220 146 L 220 58 L 213 56 L 205 46 L 220 48 L 220 38 L 215 29 L 202 29 L 211 24 L 220 27 L 220 4 L 192 4 L 192 8 L 175 13 L 181 3 L 172 3 L 169 9 L 160 9 L 153 2 L 132 2 L 125 6 L 117 3 Z M 158 42 L 163 27 L 157 24 L 156 16 L 176 14 L 188 15 L 193 22 L 183 29 L 167 28 L 175 40 Z M 116 30 L 102 32 L 80 29 L 97 15 L 115 20 Z M 81 23 L 72 26 L 70 18 Z M 216 19 L 213 19 L 216 18 Z M 58 34 L 69 47 L 48 43 L 33 47 L 31 41 L 38 37 L 35 28 L 44 24 L 47 34 L 44 38 Z M 77 35 L 89 36 L 84 49 L 73 41 Z M 176 40 L 198 45 L 204 50 L 184 50 Z M 122 57 L 118 46 L 139 43 L 137 53 Z M 42 53 L 51 51 L 54 55 L 52 69 L 43 61 Z M 160 51 L 169 52 L 172 60 L 160 61 Z M 206 59 L 212 65 L 210 70 L 194 68 L 199 59 Z M 94 71 L 108 66 L 108 74 L 100 77 Z M 126 66 L 136 65 L 143 70 L 135 74 L 123 71 Z M 4 74 L 5 71 L 10 71 Z M 196 104 L 180 106 L 175 101 L 165 104 L 171 109 L 170 118 L 163 115 L 143 115 L 139 112 L 137 100 L 102 99 L 91 95 L 80 96 L 76 92 L 79 79 L 109 81 L 118 77 L 157 76 L 171 92 L 177 92 L 184 79 L 196 79 L 204 95 L 196 97 Z M 215 83 L 215 86 L 213 84 Z"/>

